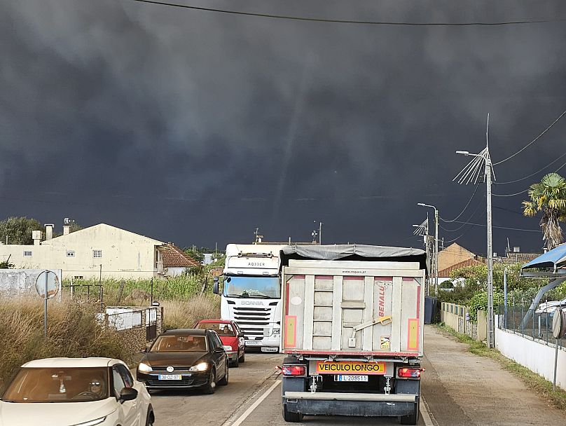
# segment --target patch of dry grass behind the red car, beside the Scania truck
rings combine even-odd
[[[165,300],[161,305],[164,329],[191,328],[205,318],[220,317],[220,298],[215,294],[195,296],[188,301]]]

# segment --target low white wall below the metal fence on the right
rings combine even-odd
[[[566,342],[562,342],[564,344]],[[527,367],[531,371],[553,382],[555,346],[533,341],[507,330],[495,329],[495,348],[507,358]],[[556,385],[566,390],[566,350],[558,350]]]

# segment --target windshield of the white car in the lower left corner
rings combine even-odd
[[[108,369],[23,368],[2,396],[6,402],[85,402],[109,397]]]

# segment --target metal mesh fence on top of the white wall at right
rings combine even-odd
[[[523,321],[525,315],[529,313],[529,306],[505,306],[499,305],[498,313],[498,327],[513,331],[513,333],[520,334],[523,337],[532,338],[533,341],[538,341],[544,345],[555,345],[556,339],[552,335],[552,321],[555,308],[536,309],[534,313]],[[562,342],[558,341],[558,348],[566,350]]]

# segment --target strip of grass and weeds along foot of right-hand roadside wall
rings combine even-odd
[[[556,387],[552,390],[552,383],[542,378],[537,373],[530,371],[526,367],[517,364],[513,360],[504,357],[501,352],[496,349],[490,349],[483,342],[474,341],[465,334],[460,334],[454,331],[445,324],[436,324],[436,328],[439,329],[443,334],[450,334],[457,338],[458,341],[466,343],[469,346],[469,352],[480,357],[488,357],[499,363],[504,369],[510,371],[517,378],[523,381],[525,385],[530,387],[530,389],[538,392],[544,397],[549,404],[566,411],[566,391]]]

